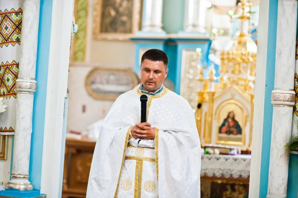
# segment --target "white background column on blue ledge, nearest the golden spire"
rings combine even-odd
[[[206,0],[185,0],[184,32],[206,32]]]

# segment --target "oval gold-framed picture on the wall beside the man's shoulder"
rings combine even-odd
[[[116,100],[118,96],[132,90],[139,78],[132,69],[109,69],[96,67],[86,76],[85,87],[96,100]]]

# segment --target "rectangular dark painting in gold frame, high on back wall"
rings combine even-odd
[[[95,0],[93,36],[98,40],[128,40],[140,30],[142,0]]]

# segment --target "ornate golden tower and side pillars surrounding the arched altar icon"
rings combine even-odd
[[[207,144],[211,143],[215,93],[223,91],[230,85],[236,85],[242,92],[246,92],[251,96],[252,109],[254,105],[257,45],[249,34],[249,2],[241,0],[237,13],[231,17],[238,19],[239,30],[221,53],[220,76],[215,76],[215,68],[212,65],[206,77],[204,77],[202,68],[199,69],[197,77],[198,108],[196,122],[199,135],[201,138],[203,137],[204,143]],[[217,80],[218,82],[216,83]],[[207,104],[208,111],[205,113],[202,113],[202,104]],[[204,126],[202,126],[203,119],[205,122]],[[252,125],[252,117],[250,122]],[[201,132],[203,128],[204,132]],[[252,126],[250,129],[250,142],[251,133]]]

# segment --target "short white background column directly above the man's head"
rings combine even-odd
[[[144,0],[145,20],[143,32],[164,32],[162,29],[162,3],[163,0]]]

